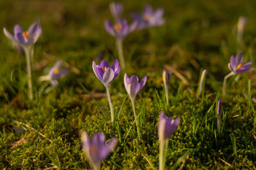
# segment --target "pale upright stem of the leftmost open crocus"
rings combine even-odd
[[[32,76],[31,76],[31,56],[30,56],[30,51],[31,48],[29,47],[24,47],[25,55],[26,55],[26,62],[27,62],[27,71],[28,71],[28,90],[29,90],[29,99],[32,101],[33,100],[33,87],[32,87]]]

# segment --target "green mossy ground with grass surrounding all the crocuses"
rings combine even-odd
[[[124,17],[141,11],[144,1],[124,1]],[[239,81],[228,80],[227,96],[221,85],[228,74],[230,55],[243,50],[246,60],[256,57],[256,3],[244,1],[150,1],[164,8],[166,23],[161,27],[132,32],[124,41],[127,69],[111,84],[116,113],[115,127],[109,123],[106,97],[97,102],[93,94],[104,93],[102,83],[92,70],[92,61],[117,57],[115,40],[104,29],[111,18],[109,1],[1,1],[0,28],[12,31],[15,24],[26,28],[40,18],[42,34],[35,45],[35,90],[42,83],[38,76],[57,59],[76,67],[59,81],[60,85],[30,102],[27,91],[26,60],[0,34],[0,168],[1,169],[88,169],[81,150],[82,130],[90,136],[102,131],[109,139],[118,137],[116,149],[103,162],[102,169],[150,169],[158,167],[157,122],[159,112],[180,117],[180,125],[169,140],[166,167],[177,169],[255,169],[256,112],[244,97],[248,80],[256,96],[255,71],[242,74]],[[248,18],[242,46],[236,43],[235,28],[239,16]],[[45,64],[46,63],[46,64]],[[165,65],[178,70],[187,80],[174,74],[170,80],[170,107],[166,108],[161,72]],[[205,97],[196,101],[196,88],[202,68],[207,69]],[[142,139],[136,139],[131,102],[127,97],[124,73],[147,75],[145,87],[136,97],[140,113]],[[78,81],[77,81],[78,80]],[[223,100],[225,124],[216,132],[216,101]],[[125,101],[124,101],[125,100]],[[124,103],[122,110],[120,107]],[[255,104],[254,104],[255,106]],[[27,131],[17,133],[15,127]],[[18,131],[20,131],[18,129]],[[16,129],[17,130],[17,129]],[[130,131],[129,131],[130,130]],[[45,137],[40,136],[41,132]]]

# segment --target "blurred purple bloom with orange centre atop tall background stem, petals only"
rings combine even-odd
[[[113,24],[110,20],[105,20],[105,29],[113,37],[123,39],[127,34],[134,31],[138,25],[138,21],[132,22],[128,25],[127,20],[124,18],[120,19],[119,22]]]

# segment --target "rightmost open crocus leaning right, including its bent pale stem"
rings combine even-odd
[[[225,78],[224,78],[223,96],[225,96],[225,94],[226,94],[226,83],[227,83],[227,79],[230,76],[233,76],[233,75],[239,74],[239,73],[247,73],[254,69],[254,68],[250,68],[250,66],[252,65],[251,61],[242,63],[242,60],[243,60],[243,52],[237,53],[236,57],[234,57],[234,55],[231,56],[230,63],[228,63],[228,69],[230,69],[231,72],[229,74],[227,74],[227,76],[225,76]]]

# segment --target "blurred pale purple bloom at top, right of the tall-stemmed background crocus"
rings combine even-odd
[[[139,25],[137,29],[144,29],[145,27],[163,25],[165,22],[163,13],[163,8],[157,8],[156,11],[154,11],[150,4],[145,4],[142,15],[131,13],[131,17],[134,18],[134,20],[138,20]]]

